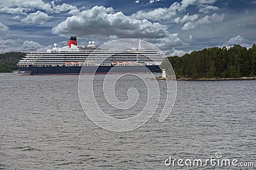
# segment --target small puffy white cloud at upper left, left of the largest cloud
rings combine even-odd
[[[28,24],[44,24],[45,21],[49,20],[51,17],[47,13],[37,11],[35,13],[29,13],[24,19],[21,20],[22,23]]]

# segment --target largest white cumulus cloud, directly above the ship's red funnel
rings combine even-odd
[[[86,38],[100,36],[101,39],[143,38],[162,49],[182,45],[177,34],[169,33],[167,26],[145,19],[135,19],[104,6],[94,6],[90,10],[67,17],[65,21],[52,28],[52,33]]]

